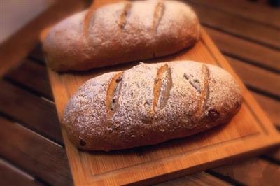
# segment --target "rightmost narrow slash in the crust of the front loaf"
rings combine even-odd
[[[202,117],[203,110],[209,98],[209,69],[206,65],[202,66],[202,73],[204,74],[204,81],[200,94],[200,100],[198,101],[197,110],[195,112],[195,116],[197,118]]]

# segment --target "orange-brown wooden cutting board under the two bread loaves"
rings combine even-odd
[[[97,8],[100,4],[94,1],[93,7]],[[219,166],[239,157],[255,155],[280,143],[280,135],[272,123],[204,30],[201,40],[193,48],[144,62],[170,60],[195,60],[221,66],[230,72],[239,83],[244,97],[239,113],[230,123],[202,134],[116,152],[77,150],[62,128],[75,185],[158,183]],[[56,73],[48,69],[59,120],[62,120],[68,99],[86,80],[109,71],[129,69],[138,63],[76,73]]]

